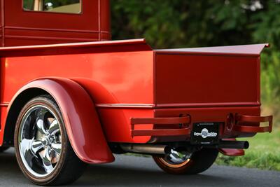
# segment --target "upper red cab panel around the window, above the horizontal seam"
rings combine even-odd
[[[22,8],[22,0],[4,0],[6,10],[5,25],[6,27],[45,29],[80,29],[80,26],[82,26],[85,30],[98,31],[99,1],[100,0],[83,0],[83,13],[71,14],[24,11]],[[69,27],[70,24],[71,27]]]

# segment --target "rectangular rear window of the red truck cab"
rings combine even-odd
[[[23,0],[25,11],[81,13],[82,0]]]

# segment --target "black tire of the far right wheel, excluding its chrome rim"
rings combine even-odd
[[[169,174],[198,174],[209,169],[218,156],[218,150],[214,148],[202,148],[188,157],[182,162],[172,162],[165,156],[153,156],[155,163],[165,172]]]

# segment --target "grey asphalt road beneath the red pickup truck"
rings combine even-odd
[[[0,186],[34,186],[20,172],[13,149],[0,154]],[[116,155],[116,162],[88,167],[71,186],[280,186],[280,172],[214,165],[178,176],[162,172],[152,158]]]

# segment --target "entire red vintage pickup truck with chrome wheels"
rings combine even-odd
[[[0,151],[38,185],[78,179],[113,153],[197,174],[244,155],[260,116],[267,44],[153,50],[110,41],[109,0],[1,0]],[[267,123],[260,126],[260,123]]]

